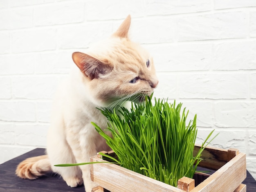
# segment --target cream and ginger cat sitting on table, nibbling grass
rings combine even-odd
[[[85,185],[91,192],[90,166],[55,167],[56,164],[83,163],[100,151],[111,150],[91,122],[106,128],[106,117],[97,108],[115,107],[126,100],[141,102],[153,93],[158,79],[153,58],[139,44],[130,41],[130,15],[110,38],[74,52],[76,65],[57,90],[43,156],[22,161],[16,174],[36,179],[47,172],[62,176],[67,185]],[[110,133],[108,133],[110,134]]]

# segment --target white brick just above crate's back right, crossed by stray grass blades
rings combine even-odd
[[[213,129],[202,129],[198,128],[198,136],[196,139],[196,143],[199,145],[202,145],[202,143],[205,141],[207,136],[210,134],[210,132]],[[220,133],[220,134],[218,134]],[[236,148],[240,152],[246,153],[246,147],[247,147],[247,142],[246,142],[246,132],[245,131],[240,131],[234,129],[227,129],[227,130],[215,130],[210,137],[213,138],[214,136],[218,136],[211,141],[209,146],[217,147],[220,149],[229,149],[229,148]],[[209,141],[210,141],[209,140]]]

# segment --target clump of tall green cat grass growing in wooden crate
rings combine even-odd
[[[153,105],[151,98],[146,97],[145,103],[133,104],[130,111],[120,107],[118,111],[104,108],[101,112],[108,118],[107,130],[92,124],[117,154],[116,162],[173,186],[177,186],[183,176],[193,177],[201,161],[200,155],[214,131],[194,157],[196,115],[186,124],[189,112],[182,109],[182,103],[176,106],[175,101],[170,104],[155,98]],[[106,131],[110,131],[112,137]]]

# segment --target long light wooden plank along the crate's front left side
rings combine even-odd
[[[90,161],[104,161],[97,156]],[[111,192],[185,192],[166,183],[110,163],[91,164],[91,179]]]

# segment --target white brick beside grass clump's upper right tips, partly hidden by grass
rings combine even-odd
[[[176,100],[177,102],[178,100]],[[180,102],[180,101],[179,101]],[[190,120],[193,121],[195,114],[197,127],[213,127],[213,104],[205,101],[181,101],[182,107],[186,107],[186,111],[189,110],[186,123]]]

